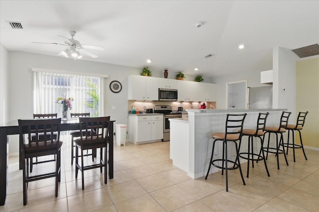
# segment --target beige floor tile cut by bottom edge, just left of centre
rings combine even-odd
[[[118,212],[165,212],[149,194],[115,204]]]

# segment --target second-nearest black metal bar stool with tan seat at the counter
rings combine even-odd
[[[260,156],[259,154],[254,153],[254,141],[253,141],[254,137],[256,139],[259,138],[260,143],[261,143],[260,148],[263,147],[264,139],[262,137],[264,136],[264,130],[265,130],[265,125],[266,125],[266,120],[267,120],[268,115],[269,115],[268,112],[267,113],[259,113],[258,119],[257,119],[257,128],[256,129],[253,129],[253,130],[252,129],[243,129],[242,136],[248,136],[248,152],[240,152],[239,157],[247,159],[247,177],[249,177],[249,161],[250,160],[252,161],[253,168],[254,168],[254,161],[258,162],[259,160],[264,160],[267,175],[268,175],[268,177],[270,177],[269,171],[267,168],[267,164],[266,164],[264,151],[262,151],[263,156]],[[240,150],[240,146],[241,146],[241,141],[239,142],[239,150]],[[250,152],[250,147],[251,147],[251,152]],[[247,155],[247,156],[243,156],[243,155]],[[254,156],[258,156],[258,158],[254,158]]]

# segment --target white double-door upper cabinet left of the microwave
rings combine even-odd
[[[128,77],[129,100],[159,100],[159,82],[157,77],[130,75]]]

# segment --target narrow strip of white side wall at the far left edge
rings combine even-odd
[[[9,52],[0,43],[0,124],[8,121],[7,79],[9,72]]]

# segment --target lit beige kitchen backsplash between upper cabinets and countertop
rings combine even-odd
[[[216,102],[205,102],[206,109],[214,109],[216,108]],[[135,106],[135,110],[145,111],[146,109],[152,108],[154,110],[155,105],[171,105],[173,111],[178,109],[178,107],[183,107],[184,110],[191,108],[199,108],[202,102],[167,102],[167,101],[135,101],[129,100],[128,111],[131,111],[132,106]]]

